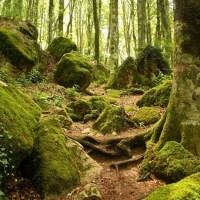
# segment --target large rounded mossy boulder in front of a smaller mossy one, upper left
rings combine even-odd
[[[57,64],[54,78],[66,88],[78,86],[84,91],[93,79],[93,71],[85,56],[71,52],[65,54]]]

